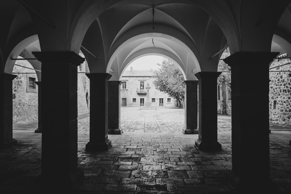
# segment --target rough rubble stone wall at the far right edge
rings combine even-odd
[[[281,55],[287,57],[287,55]],[[275,59],[270,68],[290,63],[290,59]],[[269,118],[271,123],[291,126],[291,65],[276,67],[270,71]]]

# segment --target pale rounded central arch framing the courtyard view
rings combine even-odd
[[[186,80],[197,80],[194,74],[201,71],[196,55],[184,42],[167,34],[144,33],[129,38],[115,50],[109,59],[106,72],[112,74],[111,80],[120,80],[129,63],[149,54],[170,58],[180,66]]]

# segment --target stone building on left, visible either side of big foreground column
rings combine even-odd
[[[80,55],[84,57],[82,53]],[[13,74],[17,77],[12,83],[13,122],[38,120],[38,86],[34,83],[38,81],[36,73],[28,69],[33,66],[26,60],[17,60],[15,64]],[[84,72],[89,72],[86,61],[78,67],[78,115],[90,112],[90,82]],[[54,79],[53,75],[51,79]]]

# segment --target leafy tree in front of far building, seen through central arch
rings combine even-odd
[[[181,70],[166,58],[164,58],[161,64],[157,65],[161,68],[154,71],[155,88],[175,98],[178,107],[181,108],[185,98],[184,76]]]

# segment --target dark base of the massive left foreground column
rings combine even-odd
[[[59,177],[60,175],[49,175],[44,177],[40,174],[35,182],[35,187],[40,191],[72,191],[84,179],[84,170],[77,168],[75,172],[69,173],[66,177]]]

